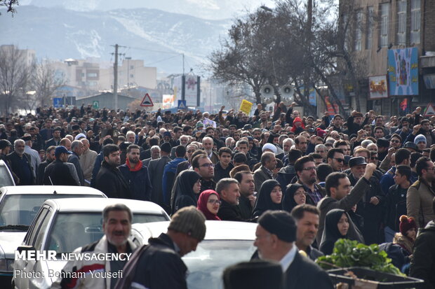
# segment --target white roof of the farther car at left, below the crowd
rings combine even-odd
[[[74,195],[104,195],[100,190],[76,185],[7,185],[0,188],[1,195],[25,194],[74,194]]]

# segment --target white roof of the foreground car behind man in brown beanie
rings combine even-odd
[[[149,237],[159,237],[166,232],[167,222],[137,223],[132,228],[140,232],[147,240]],[[257,224],[246,222],[232,222],[225,220],[206,220],[206,240],[254,240]]]

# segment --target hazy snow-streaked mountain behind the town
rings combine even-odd
[[[101,6],[105,1],[75,2]],[[229,19],[203,20],[148,8],[84,12],[53,5],[19,6],[13,17],[1,12],[0,44],[36,50],[37,57],[100,57],[103,61],[113,61],[112,45],[119,44],[123,57],[144,59],[146,66],[165,73],[182,71],[182,53],[186,71],[197,68],[219,46],[232,24]]]

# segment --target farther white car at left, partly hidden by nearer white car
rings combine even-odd
[[[11,278],[15,250],[22,243],[44,201],[66,197],[107,198],[99,190],[68,185],[14,185],[0,188],[0,276]]]

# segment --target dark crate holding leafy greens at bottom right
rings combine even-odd
[[[354,272],[358,278],[344,275],[348,271]],[[364,267],[330,269],[327,272],[334,284],[347,283],[349,288],[422,288],[424,285],[422,279],[377,272]]]

